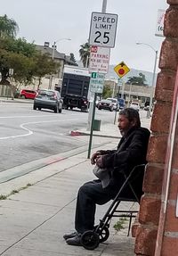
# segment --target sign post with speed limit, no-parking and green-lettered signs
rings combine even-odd
[[[104,73],[108,72],[109,66],[110,49],[107,50],[107,48],[113,48],[115,46],[117,32],[117,14],[105,13],[106,5],[107,0],[103,0],[102,11],[92,12],[89,33],[89,45],[92,45],[89,68],[90,72],[92,72],[92,78],[90,80],[90,91],[94,93],[94,98],[91,108],[92,121],[87,158],[90,158],[92,148],[96,94],[102,93]]]

